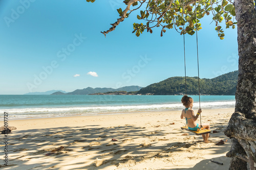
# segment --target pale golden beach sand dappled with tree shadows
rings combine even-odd
[[[203,110],[202,123],[219,131],[209,143],[180,129],[181,111],[9,120],[17,130],[8,134],[1,169],[228,169],[231,141],[223,131],[233,111]],[[216,145],[220,139],[228,140]]]

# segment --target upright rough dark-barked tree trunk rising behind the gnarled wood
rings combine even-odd
[[[247,119],[256,120],[256,12],[253,0],[234,0],[234,7],[236,8],[236,19],[238,21],[239,53],[239,76],[235,111],[243,113]],[[232,121],[236,122],[236,120]],[[229,125],[231,124],[229,122]],[[245,155],[244,149],[237,139],[232,138],[231,141],[229,156],[232,158],[229,170],[247,169],[247,163],[237,158],[239,155]],[[232,155],[234,153],[237,154],[237,157]]]

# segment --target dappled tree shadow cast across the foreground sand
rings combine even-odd
[[[187,141],[176,139],[174,142],[168,134],[180,136],[182,131],[168,132],[159,128],[151,131],[145,127],[125,125],[15,131],[8,135],[9,166],[2,169],[115,169],[125,163],[136,164],[155,158],[172,164],[176,153],[192,152],[197,145],[204,144],[191,136]],[[61,146],[63,149],[53,152]],[[216,152],[221,150],[221,147],[216,147]],[[48,153],[54,154],[46,156]]]

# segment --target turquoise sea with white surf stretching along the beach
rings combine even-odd
[[[199,108],[199,95],[193,109]],[[0,119],[182,110],[182,95],[0,95]],[[234,95],[200,95],[203,109],[234,108]]]

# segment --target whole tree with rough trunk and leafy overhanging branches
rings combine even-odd
[[[95,0],[87,0],[94,2]],[[133,33],[140,36],[145,30],[152,33],[154,27],[160,27],[161,36],[166,29],[176,29],[181,35],[193,35],[201,29],[200,20],[212,14],[216,23],[215,30],[220,39],[225,34],[220,26],[225,21],[226,28],[238,26],[239,77],[236,91],[235,111],[225,130],[231,138],[232,145],[229,169],[255,169],[256,154],[256,11],[253,0],[124,0],[126,8],[117,9],[120,18],[112,27],[103,31],[105,36],[115,30],[130,13],[146,6],[140,11],[138,19],[146,23],[134,23]],[[134,9],[131,9],[134,8]],[[237,22],[234,20],[236,16]]]

